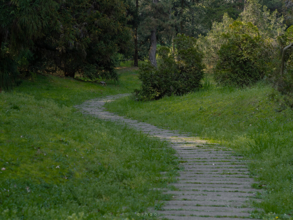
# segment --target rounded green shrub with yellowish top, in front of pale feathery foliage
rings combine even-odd
[[[218,51],[214,79],[219,84],[243,86],[263,78],[269,62],[268,43],[252,23],[234,21]]]

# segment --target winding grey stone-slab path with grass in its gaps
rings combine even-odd
[[[125,123],[170,142],[178,153],[184,170],[180,172],[178,182],[174,183],[177,191],[173,200],[166,201],[163,210],[156,211],[162,218],[175,220],[239,220],[249,218],[253,209],[248,201],[254,199],[257,189],[242,157],[216,144],[207,143],[187,134],[157,128],[148,123],[125,119],[110,113],[103,107],[105,102],[127,94],[93,99],[76,106],[84,114],[91,114],[100,119]]]

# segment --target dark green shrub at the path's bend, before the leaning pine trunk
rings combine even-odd
[[[201,87],[204,66],[196,39],[179,34],[175,44],[175,57],[170,54],[169,48],[160,47],[158,67],[148,63],[140,68],[142,86],[140,90],[134,91],[137,99],[152,100],[172,94],[182,95]]]

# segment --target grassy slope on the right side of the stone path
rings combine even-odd
[[[265,189],[263,202],[255,207],[289,219],[293,215],[293,112],[281,111],[278,94],[271,94],[271,87],[262,83],[236,89],[207,82],[200,91],[182,97],[147,102],[126,97],[106,107],[159,127],[190,132],[245,155],[252,160],[249,168],[258,176],[258,188]]]

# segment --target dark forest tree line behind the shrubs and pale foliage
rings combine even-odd
[[[293,21],[291,0],[259,0],[277,9],[287,27]],[[1,0],[0,90],[19,74],[79,73],[88,79],[118,79],[118,53],[149,59],[156,47],[175,54],[177,34],[205,36],[224,13],[234,20],[246,0]]]

